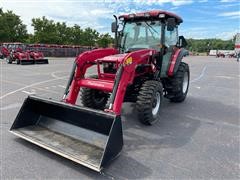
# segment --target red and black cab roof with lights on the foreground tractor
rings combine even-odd
[[[159,15],[161,14],[161,17]],[[179,17],[178,15],[168,12],[168,11],[163,11],[163,10],[153,10],[153,11],[146,11],[146,12],[140,12],[140,13],[133,13],[133,14],[124,14],[118,17],[119,19],[124,18],[125,21],[127,20],[133,20],[133,19],[167,19],[167,18],[175,18],[176,23],[180,24],[183,22],[182,18]]]

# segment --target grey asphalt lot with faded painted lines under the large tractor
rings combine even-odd
[[[124,148],[102,174],[9,133],[30,94],[61,99],[74,58],[49,65],[1,60],[0,179],[238,179],[240,178],[239,63],[187,57],[191,84],[185,102],[163,102],[161,119],[140,124],[134,104],[123,107]]]

